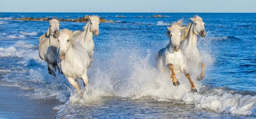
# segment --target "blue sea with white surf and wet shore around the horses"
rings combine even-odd
[[[3,119],[256,119],[256,14],[246,13],[0,13],[0,118]],[[48,74],[38,55],[47,21],[11,18],[77,19],[99,15],[90,85],[76,93],[64,75]],[[150,17],[156,14],[165,17]],[[117,16],[126,17],[117,17]],[[180,73],[179,86],[157,71],[155,55],[166,47],[167,26],[199,15],[206,37],[198,49],[206,64],[189,71],[198,90]],[[143,17],[137,17],[143,16]],[[116,22],[118,21],[118,22]],[[82,30],[86,23],[60,22]],[[151,25],[149,25],[151,24]]]

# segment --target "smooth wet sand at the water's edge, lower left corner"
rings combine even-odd
[[[58,100],[33,100],[20,96],[24,90],[0,86],[0,119],[53,119]]]

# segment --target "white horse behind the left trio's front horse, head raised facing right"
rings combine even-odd
[[[95,36],[99,35],[99,22],[98,16],[89,16],[89,22],[84,26],[84,31],[76,30],[72,33],[73,39],[82,44],[89,54],[90,64],[93,61],[94,53],[93,33]]]

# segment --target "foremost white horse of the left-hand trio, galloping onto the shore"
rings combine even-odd
[[[87,67],[90,64],[89,55],[79,42],[73,41],[71,30],[64,29],[60,31],[58,44],[58,67],[67,77],[69,83],[75,87],[79,94],[82,94],[79,90],[77,78],[83,79],[84,86],[87,86]]]

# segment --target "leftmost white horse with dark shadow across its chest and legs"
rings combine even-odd
[[[58,52],[57,37],[59,34],[60,22],[57,19],[51,19],[49,20],[49,23],[50,25],[47,33],[44,33],[39,38],[38,53],[40,58],[47,62],[49,74],[56,76],[54,68],[56,70],[56,55]]]

